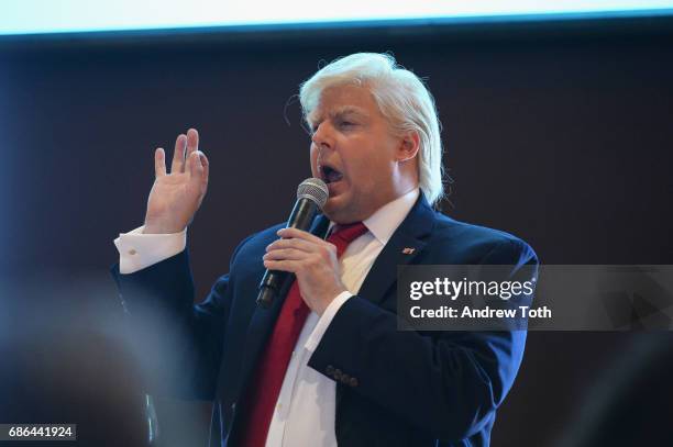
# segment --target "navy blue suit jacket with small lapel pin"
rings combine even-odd
[[[315,231],[324,232],[327,224],[317,217]],[[280,310],[279,300],[269,310],[255,305],[262,256],[280,226],[243,241],[229,273],[197,305],[186,250],[132,275],[113,267],[132,327],[158,314],[173,321],[161,335],[144,334],[139,343],[151,349],[169,332],[186,340],[184,349],[158,360],[156,371],[166,377],[148,385],[155,393],[213,400],[212,446],[236,445],[242,396]],[[402,254],[407,247],[415,248],[411,255]],[[537,262],[521,239],[454,221],[420,194],[309,360],[336,381],[339,445],[487,446],[496,409],[521,362],[526,332],[398,331],[397,266]]]

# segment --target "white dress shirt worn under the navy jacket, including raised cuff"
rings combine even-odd
[[[315,312],[309,314],[285,372],[266,447],[336,447],[336,383],[309,368],[308,361],[339,309],[360,290],[376,257],[405,220],[418,194],[419,190],[415,189],[378,209],[363,222],[368,231],[343,253],[341,281],[349,291],[336,297],[322,316]],[[142,234],[142,230],[141,226],[114,239],[122,275],[146,268],[185,249],[186,231],[147,235]]]

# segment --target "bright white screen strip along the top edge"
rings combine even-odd
[[[673,13],[673,0],[0,0],[0,35],[375,20],[544,20]]]

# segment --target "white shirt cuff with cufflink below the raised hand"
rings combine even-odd
[[[143,234],[144,225],[114,239],[119,250],[119,272],[133,273],[168,259],[187,246],[187,228],[172,234]]]

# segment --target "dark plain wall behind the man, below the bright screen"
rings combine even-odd
[[[544,264],[673,264],[671,24],[4,38],[0,271],[104,276],[112,239],[142,224],[154,148],[170,153],[194,126],[211,164],[188,239],[200,299],[241,238],[286,219],[310,176],[299,82],[361,51],[393,52],[427,79],[453,179],[444,213],[522,237]],[[531,333],[493,445],[547,446],[573,429],[633,337]],[[165,403],[159,417],[194,410]]]

